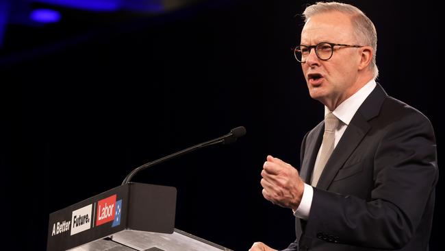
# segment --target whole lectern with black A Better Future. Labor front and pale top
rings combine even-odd
[[[49,215],[48,251],[229,250],[175,228],[176,189],[129,182]]]

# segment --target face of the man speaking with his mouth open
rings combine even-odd
[[[349,17],[340,12],[327,12],[308,19],[301,32],[301,45],[321,42],[356,45]],[[358,90],[359,62],[357,48],[335,46],[329,60],[320,60],[312,49],[306,62],[301,64],[309,95],[330,109],[337,107]]]

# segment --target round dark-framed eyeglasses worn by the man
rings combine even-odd
[[[327,43],[322,42],[318,43],[317,45],[300,45],[295,47],[294,49],[294,56],[295,59],[298,62],[305,63],[307,57],[311,53],[311,49],[315,49],[315,53],[320,60],[329,60],[332,57],[334,46],[342,46],[344,48],[359,48],[364,47],[363,45],[344,45],[344,44],[334,44],[334,43]],[[339,48],[341,49],[341,48]]]

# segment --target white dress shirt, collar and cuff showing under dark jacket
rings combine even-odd
[[[338,141],[342,137],[344,131],[348,127],[351,119],[353,119],[355,112],[359,109],[361,104],[365,101],[365,99],[372,93],[375,86],[377,86],[375,80],[371,80],[367,84],[365,84],[357,93],[354,93],[351,97],[348,97],[345,101],[342,102],[335,110],[333,110],[333,115],[340,120],[338,128],[335,129],[335,142],[334,147],[337,146]],[[329,112],[329,108],[325,106],[325,115]],[[321,147],[320,147],[321,148]],[[318,150],[315,166],[317,165],[320,159],[320,152]],[[309,184],[305,183],[305,190],[303,191],[303,198],[301,198],[300,205],[294,211],[295,217],[301,219],[307,219],[309,217],[309,213],[311,211],[312,198],[314,197],[314,188]]]

